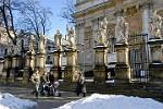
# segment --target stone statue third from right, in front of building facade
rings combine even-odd
[[[103,19],[103,21],[100,23],[100,28],[99,28],[99,34],[98,37],[96,38],[97,45],[102,45],[106,47],[108,45],[108,20],[106,17]]]

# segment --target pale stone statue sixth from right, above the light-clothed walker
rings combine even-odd
[[[45,39],[45,36],[42,35],[39,37],[38,51],[41,53],[46,52],[46,39]]]

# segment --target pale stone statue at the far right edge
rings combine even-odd
[[[156,14],[156,11],[153,12],[153,15],[150,21],[151,35],[155,38],[161,38],[161,28],[162,28],[162,16]]]

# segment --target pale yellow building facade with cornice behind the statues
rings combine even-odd
[[[78,64],[85,71],[93,69],[95,64],[95,38],[97,37],[99,23],[106,17],[109,21],[108,40],[109,58],[114,52],[114,28],[117,16],[125,16],[129,24],[129,34],[150,35],[150,17],[154,10],[163,15],[162,0],[76,0],[76,34],[78,44]],[[114,57],[114,56],[113,56]],[[111,59],[113,59],[113,57]],[[108,63],[116,59],[109,60]]]

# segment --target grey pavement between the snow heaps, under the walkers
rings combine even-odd
[[[34,100],[38,102],[38,106],[35,109],[52,109],[52,108],[60,107],[72,100],[82,98],[82,96],[76,97],[76,95],[72,92],[61,92],[61,95],[62,95],[61,97],[40,96],[37,99],[35,98],[34,95],[32,95],[33,90],[29,88],[10,87],[10,86],[0,86],[0,92],[13,94],[14,96],[20,97],[20,98]]]

